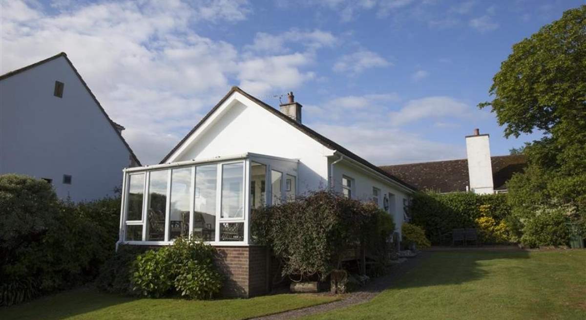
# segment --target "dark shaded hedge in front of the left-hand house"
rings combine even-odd
[[[52,186],[0,176],[0,305],[93,280],[114,253],[120,199],[74,205]]]

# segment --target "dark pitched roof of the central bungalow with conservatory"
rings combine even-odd
[[[269,111],[270,113],[276,115],[277,117],[281,118],[281,120],[287,122],[288,124],[292,125],[293,127],[297,128],[299,131],[304,132],[306,135],[308,135],[309,137],[313,138],[315,141],[318,141],[320,144],[324,145],[327,148],[336,150],[338,152],[340,152],[340,154],[343,154],[345,156],[347,156],[350,159],[353,159],[356,162],[359,162],[360,164],[367,166],[370,169],[373,169],[374,171],[380,173],[383,176],[386,176],[387,178],[391,179],[394,182],[400,183],[401,185],[405,186],[408,189],[412,189],[415,190],[414,186],[409,185],[408,183],[402,181],[401,179],[397,178],[396,176],[392,175],[389,172],[384,171],[383,169],[377,167],[376,165],[371,164],[370,162],[366,161],[363,158],[360,158],[360,156],[354,154],[353,152],[350,152],[348,149],[342,147],[339,144],[336,144],[336,142],[333,142],[331,139],[328,139],[326,137],[324,137],[323,135],[319,134],[318,132],[315,132],[314,130],[312,130],[311,128],[307,127],[304,124],[301,124],[295,120],[293,120],[292,118],[288,117],[287,115],[283,114],[281,111],[271,107],[271,105],[268,105],[266,103],[264,103],[261,100],[258,100],[258,98],[255,98],[253,96],[251,96],[250,94],[246,93],[244,90],[242,90],[241,88],[234,86],[230,89],[230,91],[228,91],[228,93],[226,94],[226,96],[224,96],[222,98],[222,100],[220,100],[219,103],[217,103],[212,110],[209,111],[209,113],[207,113],[201,121],[199,121],[199,123],[193,127],[193,129],[191,131],[189,131],[189,133],[187,135],[185,135],[185,137],[179,141],[179,143],[175,146],[175,148],[171,149],[171,151],[169,152],[169,154],[167,154],[165,156],[165,158],[162,159],[162,161],[160,162],[161,164],[164,164],[167,159],[169,159],[169,157],[175,153],[175,151],[177,151],[177,149],[179,149],[179,147],[185,142],[187,141],[187,139],[189,138],[190,135],[193,134],[193,132],[195,132],[197,130],[197,128],[199,128],[203,122],[205,122],[207,120],[207,118],[209,118],[214,111],[216,111],[220,105],[222,105],[224,103],[224,101],[226,101],[226,99],[228,97],[231,96],[231,94],[233,94],[234,92],[238,92],[240,94],[242,94],[243,96],[249,98],[250,100],[254,101],[255,103],[257,103],[258,105],[260,105],[261,107],[265,108],[265,110]]]

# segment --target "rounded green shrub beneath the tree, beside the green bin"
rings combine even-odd
[[[524,221],[521,241],[527,247],[560,246],[569,241],[565,208],[541,209],[530,219]]]

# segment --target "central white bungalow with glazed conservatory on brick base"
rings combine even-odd
[[[250,297],[269,281],[250,234],[257,207],[331,188],[376,202],[400,234],[415,189],[306,127],[301,109],[292,93],[277,110],[231,88],[161,164],[124,169],[118,244],[202,237],[223,255],[224,294]]]

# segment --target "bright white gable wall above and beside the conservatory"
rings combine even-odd
[[[332,150],[308,137],[270,111],[239,93],[229,98],[210,118],[209,127],[169,161],[209,159],[254,152],[299,159],[298,192],[328,188],[328,159]],[[199,130],[198,130],[199,131]]]

